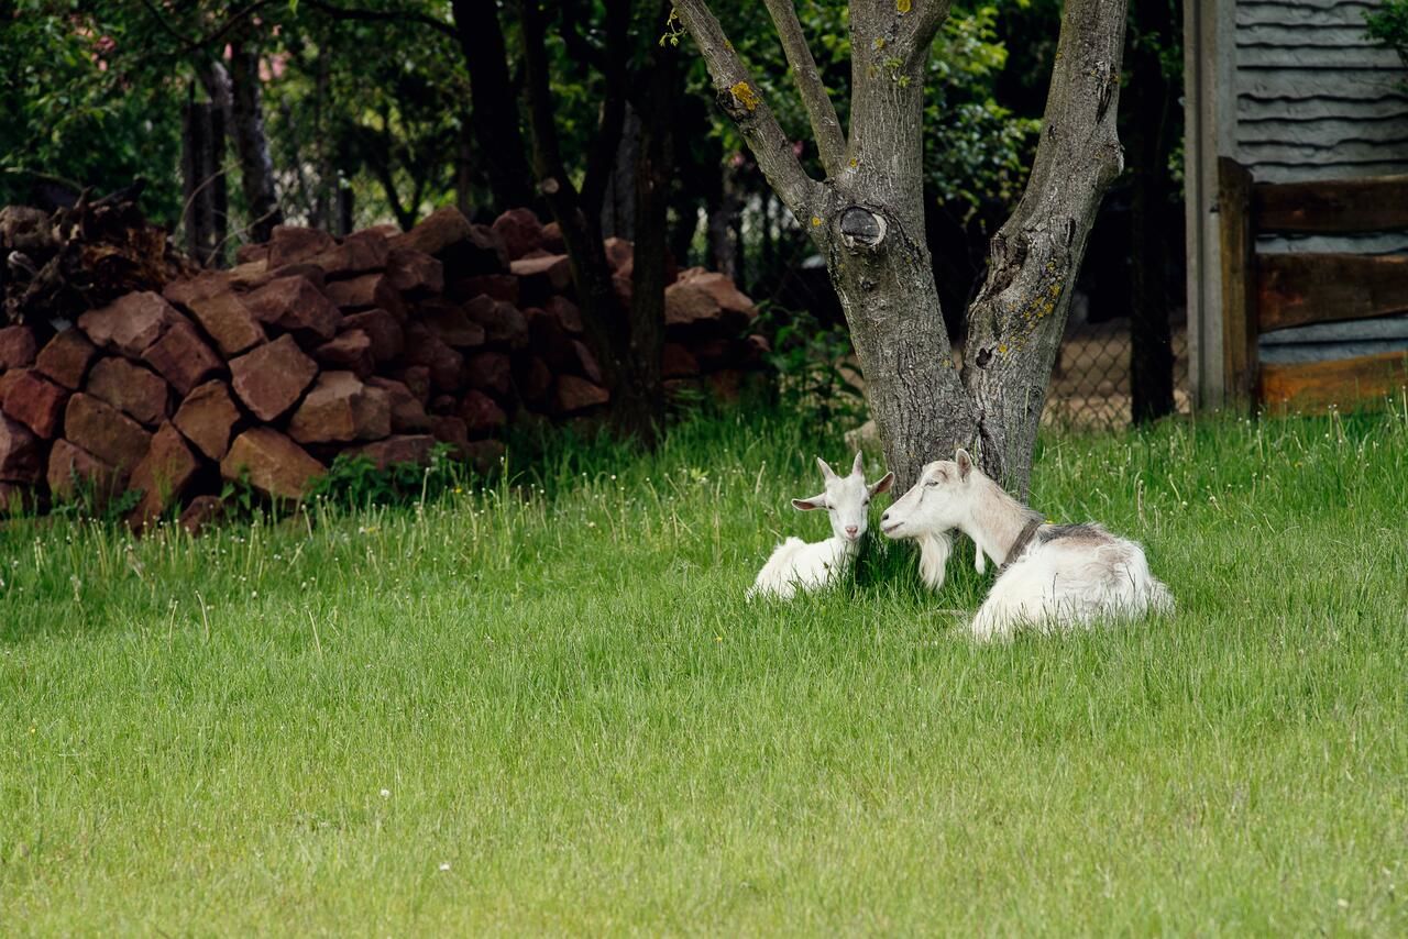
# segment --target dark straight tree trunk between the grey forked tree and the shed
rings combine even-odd
[[[1135,422],[1173,414],[1173,332],[1169,325],[1170,263],[1169,131],[1178,92],[1170,87],[1160,49],[1177,42],[1178,0],[1142,0],[1132,8],[1132,80],[1126,111],[1133,163],[1129,200],[1129,252],[1133,259],[1129,304],[1129,386]]]

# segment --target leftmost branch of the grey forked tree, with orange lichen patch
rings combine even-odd
[[[773,191],[787,204],[793,215],[805,220],[821,197],[821,184],[810,177],[797,159],[793,142],[783,132],[777,115],[758,92],[748,68],[724,35],[724,27],[708,8],[705,0],[679,0],[674,6],[684,28],[704,56],[719,107],[734,120],[753,151],[759,169]]]

